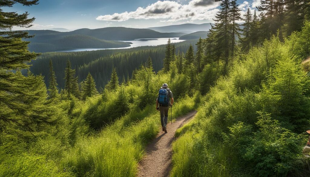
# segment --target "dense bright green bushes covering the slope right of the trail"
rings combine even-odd
[[[307,176],[297,133],[310,126],[309,83],[296,38],[251,48],[210,91],[202,78],[218,65],[205,66],[198,80],[206,102],[178,132],[171,176]]]

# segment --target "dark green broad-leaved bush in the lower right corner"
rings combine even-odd
[[[282,128],[270,115],[262,114],[256,123],[259,131],[246,148],[244,158],[258,176],[286,176],[303,170],[305,164],[300,155],[301,138]]]

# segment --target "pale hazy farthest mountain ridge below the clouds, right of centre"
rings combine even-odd
[[[186,24],[176,24],[176,25],[169,25],[169,26],[151,27],[147,29],[153,29],[161,33],[173,33],[173,32],[178,32],[178,31],[197,32],[197,31],[209,31],[209,29],[211,29],[211,25],[214,25],[214,24],[212,23],[203,23],[203,24],[186,23]]]

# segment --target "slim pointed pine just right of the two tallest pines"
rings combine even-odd
[[[251,24],[252,24],[252,14],[250,11],[250,8],[248,8],[248,10],[246,11],[246,14],[244,14],[244,19],[245,22],[244,24],[242,24],[243,29],[241,29],[242,31],[242,35],[243,37],[240,38],[240,46],[241,46],[241,51],[247,53],[250,50],[251,47],[251,41],[250,41],[250,28],[251,28]]]

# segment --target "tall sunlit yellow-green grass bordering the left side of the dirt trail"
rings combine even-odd
[[[179,100],[173,118],[195,108],[193,98]],[[61,164],[77,176],[135,176],[144,146],[159,132],[160,118],[155,106],[130,112],[98,135],[79,139]]]

